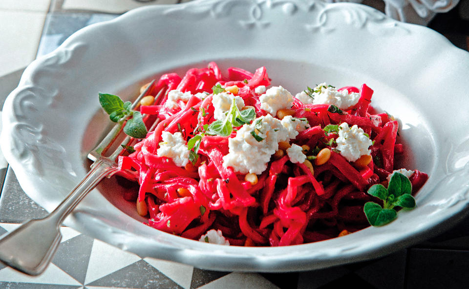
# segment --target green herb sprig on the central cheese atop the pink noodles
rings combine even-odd
[[[233,98],[230,110],[226,114],[225,119],[217,120],[210,124],[207,133],[226,137],[232,133],[233,127],[249,124],[255,118],[256,112],[254,111],[254,108],[239,111],[236,106],[236,100]]]

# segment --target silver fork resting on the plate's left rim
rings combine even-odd
[[[132,109],[139,105],[140,100],[147,94],[152,85],[153,82],[132,103]],[[155,102],[161,98],[164,91],[165,88],[158,92]],[[158,120],[150,130],[157,122]],[[105,153],[121,135],[123,127],[124,123],[116,124],[101,143],[88,154],[88,158],[94,161],[91,170],[57,208],[43,219],[29,220],[9,234],[2,236],[0,239],[0,260],[2,262],[29,275],[39,275],[47,268],[62,239],[60,225],[65,217],[104,177],[110,177],[117,171],[115,160],[122,153],[123,147],[117,146],[107,157]],[[121,144],[128,145],[130,141],[131,138],[126,136]]]

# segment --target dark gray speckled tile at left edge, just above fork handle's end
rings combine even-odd
[[[24,193],[15,173],[9,168],[0,196],[0,222],[22,223],[46,215],[47,211]]]

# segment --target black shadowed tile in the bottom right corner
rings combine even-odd
[[[468,288],[469,251],[412,248],[407,254],[407,289]]]

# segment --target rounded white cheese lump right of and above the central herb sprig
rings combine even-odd
[[[271,115],[276,115],[277,110],[291,108],[293,95],[281,86],[272,86],[259,96],[260,108]]]

